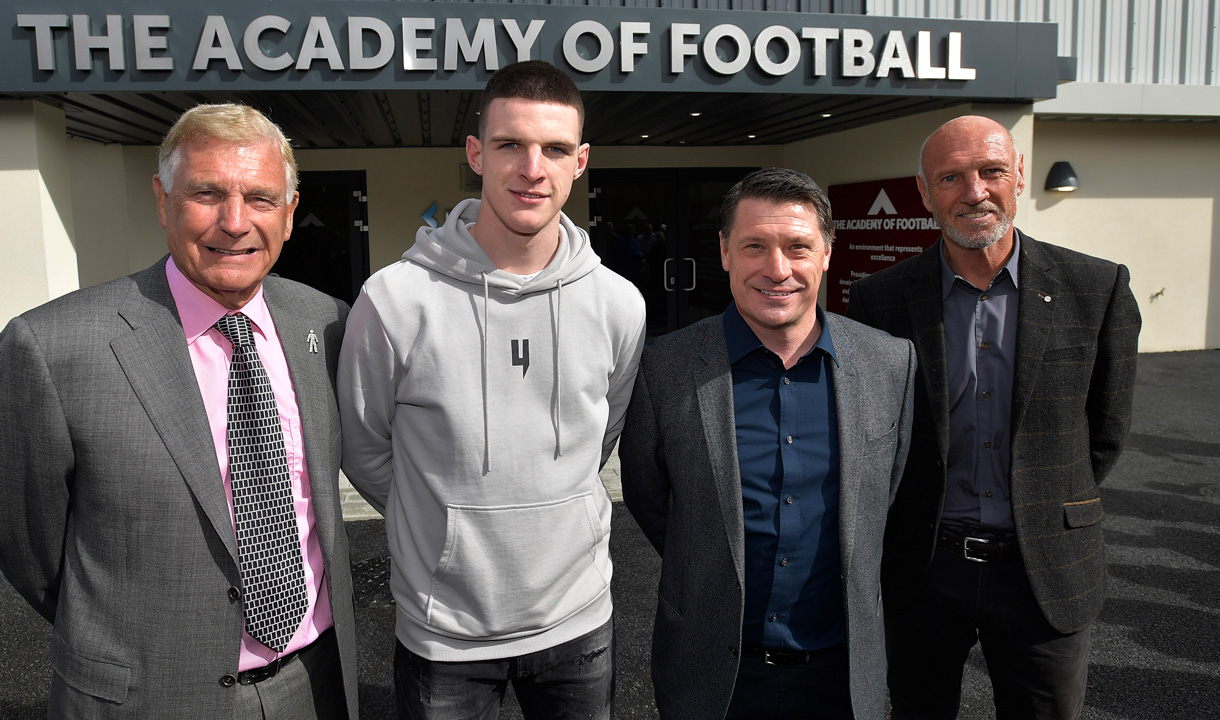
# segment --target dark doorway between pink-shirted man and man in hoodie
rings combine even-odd
[[[272,270],[349,305],[368,279],[365,172],[300,173],[293,234]]]

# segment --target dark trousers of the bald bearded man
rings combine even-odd
[[[924,596],[886,613],[892,718],[956,718],[961,670],[975,642],[987,659],[997,720],[1078,718],[1089,635],[1050,627],[1019,558],[972,563],[939,547]]]

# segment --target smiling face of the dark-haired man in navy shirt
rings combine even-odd
[[[813,207],[742,199],[728,237],[720,236],[720,261],[737,310],[764,344],[809,338],[817,322],[817,288],[831,262]]]

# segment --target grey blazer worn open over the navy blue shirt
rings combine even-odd
[[[915,353],[830,312],[839,544],[859,720],[884,713],[881,547],[910,447]],[[721,316],[645,348],[620,441],[627,509],[661,554],[653,683],[665,720],[722,719],[742,642],[744,543],[733,378]]]

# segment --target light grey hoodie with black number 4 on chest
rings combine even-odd
[[[547,649],[610,617],[610,499],[644,301],[560,216],[528,281],[464,200],[365,283],[339,360],[343,469],[386,515],[396,635],[431,660]]]

